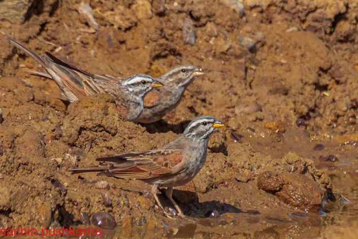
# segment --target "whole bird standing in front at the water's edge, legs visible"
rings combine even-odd
[[[185,217],[174,201],[173,187],[190,182],[202,169],[206,161],[210,136],[225,124],[211,116],[198,117],[191,121],[183,134],[160,149],[130,152],[97,158],[98,166],[69,169],[72,173],[97,172],[97,176],[119,179],[137,179],[151,184],[151,193],[165,215],[166,212],[157,196],[158,187],[167,187],[166,195],[177,210]]]

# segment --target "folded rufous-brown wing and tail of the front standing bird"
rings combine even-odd
[[[76,168],[75,173],[100,172],[98,176],[114,176],[123,179],[149,179],[175,173],[183,155],[179,150],[153,150],[98,158],[97,161],[112,162],[106,166]],[[176,171],[176,170],[175,170]]]

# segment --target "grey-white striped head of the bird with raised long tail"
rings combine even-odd
[[[143,98],[151,89],[164,86],[161,82],[148,75],[133,75],[125,78],[119,83],[125,87],[133,96]]]

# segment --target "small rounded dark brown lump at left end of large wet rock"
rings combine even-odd
[[[278,174],[274,174],[270,171],[264,172],[257,178],[258,189],[266,192],[277,192],[283,186],[283,178]]]

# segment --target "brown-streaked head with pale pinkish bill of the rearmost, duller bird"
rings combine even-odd
[[[204,75],[204,71],[193,65],[178,65],[170,69],[166,74],[162,75],[159,79],[171,87],[186,87],[197,76]]]

